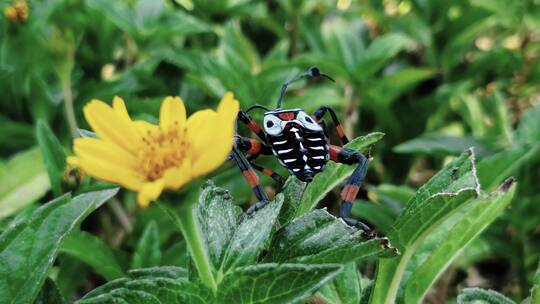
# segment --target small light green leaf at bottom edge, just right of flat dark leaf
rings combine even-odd
[[[319,292],[330,304],[358,304],[361,296],[360,287],[360,275],[356,269],[356,263],[349,263]]]

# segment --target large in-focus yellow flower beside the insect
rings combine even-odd
[[[92,100],[84,116],[98,138],[77,138],[68,162],[88,175],[137,191],[146,207],[164,189],[177,190],[219,167],[232,149],[239,103],[226,93],[217,111],[206,109],[186,119],[179,97],[161,104],[159,125],[132,121],[124,101],[113,106]]]

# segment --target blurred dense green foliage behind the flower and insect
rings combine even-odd
[[[284,105],[333,106],[351,138],[385,133],[353,210],[383,234],[414,190],[470,146],[477,160],[491,160],[479,168],[485,191],[500,182],[491,168],[516,177],[511,208],[463,249],[427,299],[455,301],[467,286],[524,299],[540,256],[539,29],[538,0],[30,1],[26,21],[0,18],[0,229],[63,192],[104,186],[62,173],[76,128],[88,128],[82,107],[90,99],[121,96],[133,117],[150,121],[167,95],[180,95],[190,112],[215,107],[226,91],[244,108],[274,106],[281,83],[318,66],[336,83],[294,85]],[[44,162],[44,151],[56,157]],[[253,201],[235,168],[213,178],[236,203]],[[335,211],[338,194],[320,205]],[[185,265],[185,245],[162,217],[157,207],[137,210],[121,191],[83,222],[87,232],[66,240],[50,277],[76,298],[120,276],[119,267]],[[85,238],[116,258],[70,251]],[[141,252],[145,242],[159,254]],[[130,265],[88,266],[128,264],[132,252]],[[373,262],[360,268],[373,277]]]

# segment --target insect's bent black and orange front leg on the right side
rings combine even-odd
[[[372,237],[373,232],[366,224],[351,218],[352,204],[366,176],[368,159],[358,151],[334,145],[330,146],[330,159],[337,163],[357,165],[341,191],[339,217],[348,225],[355,226],[362,230],[368,237]]]

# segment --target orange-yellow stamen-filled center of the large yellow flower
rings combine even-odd
[[[163,176],[165,171],[182,164],[188,150],[188,143],[184,134],[179,134],[178,129],[164,131],[161,128],[157,132],[148,130],[143,137],[145,146],[139,151],[137,158],[139,170],[150,181]]]

